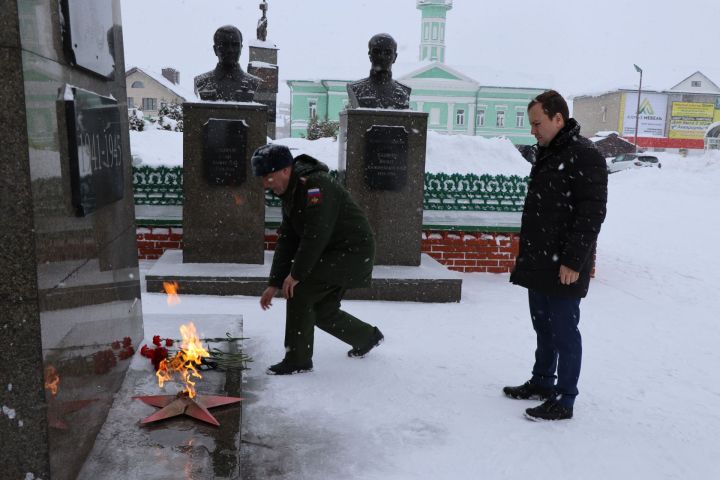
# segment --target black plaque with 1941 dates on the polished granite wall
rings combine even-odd
[[[123,198],[123,152],[117,100],[80,88],[62,92],[72,204],[78,216]]]

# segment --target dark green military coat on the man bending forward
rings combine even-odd
[[[269,285],[281,287],[290,273],[300,282],[343,288],[370,285],[375,239],[370,224],[328,167],[300,155],[282,199],[282,225]]]

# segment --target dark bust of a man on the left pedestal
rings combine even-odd
[[[201,100],[252,102],[262,80],[240,68],[242,33],[225,25],[217,29],[213,39],[218,64],[215,70],[195,77],[195,94]]]

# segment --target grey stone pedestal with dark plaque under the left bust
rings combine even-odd
[[[267,107],[183,104],[183,261],[263,263],[265,197],[250,158],[266,143]]]

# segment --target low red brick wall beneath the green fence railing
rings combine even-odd
[[[154,260],[168,249],[182,248],[182,228],[137,229],[138,258]],[[274,250],[277,234],[265,232],[265,249]],[[516,233],[424,231],[422,252],[458,272],[509,272],[518,252]]]

